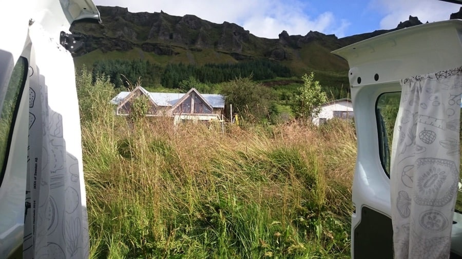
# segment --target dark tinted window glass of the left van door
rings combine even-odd
[[[20,58],[13,68],[6,90],[2,89],[3,91],[0,92],[4,94],[1,98],[3,102],[0,107],[0,168],[2,170],[0,183],[5,174],[13,125],[26,82],[27,68],[27,60],[23,57]],[[2,88],[3,87],[5,86],[2,86]]]

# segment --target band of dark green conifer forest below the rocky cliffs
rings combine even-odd
[[[221,83],[250,75],[254,80],[292,76],[289,68],[264,59],[204,66],[179,63],[168,64],[165,68],[143,60],[97,60],[93,64],[92,71],[93,77],[105,74],[116,86],[124,84],[125,87],[126,79],[136,82],[139,77],[146,86],[161,84],[165,88],[179,88],[181,81],[191,77],[202,83]]]

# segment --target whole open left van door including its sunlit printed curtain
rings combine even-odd
[[[0,258],[88,257],[79,106],[69,51],[91,0],[0,9]]]

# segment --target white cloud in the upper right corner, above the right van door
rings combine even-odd
[[[422,23],[448,20],[449,15],[460,8],[460,5],[436,0],[375,0],[372,5],[384,15],[380,29],[396,28],[399,21],[408,20],[409,15],[417,16]]]

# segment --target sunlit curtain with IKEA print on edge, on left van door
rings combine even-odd
[[[87,258],[79,105],[70,53],[30,27],[24,258]]]

